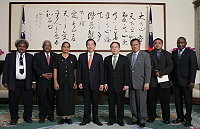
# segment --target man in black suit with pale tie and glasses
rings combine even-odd
[[[120,44],[118,42],[112,42],[110,48],[112,55],[104,60],[105,90],[108,90],[109,104],[107,125],[117,122],[120,126],[124,126],[124,95],[130,84],[129,61],[126,56],[119,54]],[[117,118],[115,104],[117,104]]]

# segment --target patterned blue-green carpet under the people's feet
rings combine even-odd
[[[175,107],[174,105],[170,106],[171,108],[171,119],[176,118],[176,112],[175,112]],[[129,109],[129,105],[125,105],[125,119],[124,122],[127,123],[128,121],[131,120],[131,112]],[[0,105],[0,128],[8,128],[12,127],[13,129],[86,129],[86,128],[101,128],[102,126],[96,126],[92,122],[86,126],[79,126],[78,124],[82,121],[82,116],[83,116],[83,106],[82,105],[77,105],[76,106],[76,112],[75,115],[72,117],[73,124],[72,125],[58,125],[57,122],[59,121],[59,117],[56,118],[56,122],[49,122],[48,120],[45,121],[44,124],[38,123],[38,107],[34,106],[33,110],[33,124],[28,124],[25,123],[22,119],[22,114],[23,114],[23,106],[20,106],[20,119],[19,119],[19,124],[15,126],[9,125],[9,110],[8,110],[8,105]],[[158,106],[157,110],[157,115],[161,116],[161,110],[160,106]],[[166,125],[162,122],[161,117],[158,117],[155,122],[153,123],[146,123],[146,127],[144,129],[200,129],[200,105],[194,105],[193,106],[193,112],[192,112],[192,127],[186,128],[183,125],[173,125],[169,124]],[[130,129],[138,129],[139,127],[137,125],[129,126],[125,125],[124,127],[120,127],[117,124],[114,124],[113,126],[107,126],[106,123],[108,121],[108,106],[107,105],[100,105],[99,106],[99,119],[100,121],[103,122],[103,128],[104,129],[121,129],[121,128],[130,128]]]

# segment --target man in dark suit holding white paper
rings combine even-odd
[[[153,122],[156,118],[157,98],[160,98],[162,118],[165,124],[170,123],[170,83],[168,81],[158,82],[158,78],[168,77],[173,70],[172,56],[162,49],[163,40],[154,40],[154,49],[149,52],[151,58],[151,80],[147,91],[147,122]]]

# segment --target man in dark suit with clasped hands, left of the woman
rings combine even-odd
[[[53,87],[53,61],[55,53],[51,52],[51,42],[45,40],[43,51],[34,55],[33,69],[36,74],[37,95],[39,105],[39,123],[44,123],[45,118],[54,122],[54,87]]]

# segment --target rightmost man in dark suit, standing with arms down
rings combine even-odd
[[[186,48],[187,42],[184,37],[177,40],[178,50],[172,52],[174,70],[172,72],[175,91],[175,105],[177,119],[173,123],[184,122],[186,127],[191,126],[192,90],[197,70],[197,58],[193,50]],[[183,97],[186,104],[186,114],[183,112]]]

